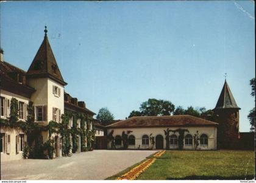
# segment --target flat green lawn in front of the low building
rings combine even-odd
[[[254,179],[254,151],[166,151],[138,179]]]

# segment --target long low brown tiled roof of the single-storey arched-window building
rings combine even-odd
[[[211,122],[190,115],[178,116],[140,116],[108,125],[107,128],[143,128],[143,127],[171,127],[171,126],[216,126]]]

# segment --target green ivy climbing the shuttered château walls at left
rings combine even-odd
[[[7,119],[1,119],[1,126],[10,127],[10,128],[21,128],[25,134],[27,134],[27,143],[24,147],[23,157],[24,158],[48,158],[52,159],[54,154],[54,140],[51,139],[53,133],[60,133],[62,136],[62,155],[71,156],[71,147],[72,152],[75,153],[78,148],[77,134],[81,137],[81,151],[86,151],[85,147],[85,137],[87,137],[87,142],[90,144],[94,140],[94,131],[85,130],[85,121],[90,123],[92,118],[87,117],[80,112],[71,112],[65,110],[62,115],[62,123],[57,123],[50,121],[46,126],[40,126],[38,123],[35,123],[34,116],[34,107],[33,103],[29,102],[27,105],[27,120],[26,122],[18,120],[18,100],[12,98],[10,102],[10,117]],[[68,128],[69,119],[73,117],[73,126],[71,129]],[[80,119],[80,128],[77,126],[77,119]],[[43,137],[41,132],[49,132],[49,140],[43,143]],[[90,132],[90,138],[87,136],[87,132]],[[70,136],[73,138],[73,145],[70,142]]]

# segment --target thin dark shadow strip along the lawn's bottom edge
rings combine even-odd
[[[184,178],[166,178],[166,180],[255,180],[255,175],[247,176],[187,176]]]

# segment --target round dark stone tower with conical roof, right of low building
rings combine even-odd
[[[218,148],[235,148],[239,139],[239,110],[225,79],[215,106],[214,119],[218,125]]]

